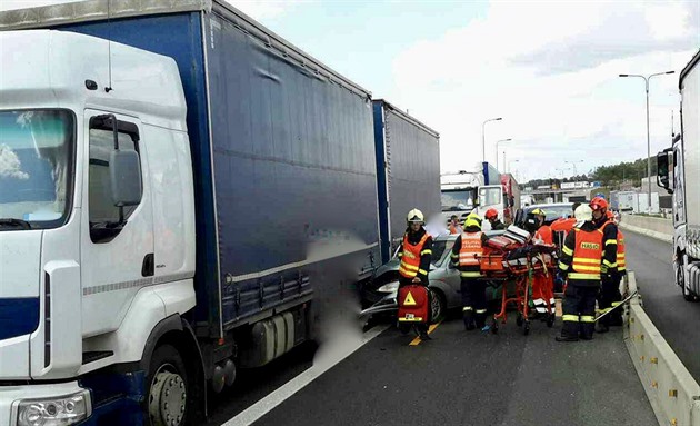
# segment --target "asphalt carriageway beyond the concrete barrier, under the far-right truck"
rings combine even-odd
[[[686,301],[673,281],[671,245],[629,230],[624,231],[624,244],[644,311],[700,382],[700,304]]]

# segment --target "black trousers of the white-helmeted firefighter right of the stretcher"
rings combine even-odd
[[[562,337],[592,338],[596,329],[596,297],[600,286],[569,280],[562,303]]]

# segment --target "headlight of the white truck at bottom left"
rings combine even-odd
[[[17,426],[72,425],[92,414],[88,390],[54,398],[21,399],[16,404]]]

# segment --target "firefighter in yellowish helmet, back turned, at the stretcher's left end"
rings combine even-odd
[[[452,246],[452,266],[459,269],[462,293],[462,318],[470,331],[483,328],[487,317],[486,281],[481,278],[480,257],[487,237],[481,232],[481,218],[471,212],[464,220],[464,230]]]

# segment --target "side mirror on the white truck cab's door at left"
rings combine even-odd
[[[116,207],[141,202],[141,167],[133,150],[113,150],[109,157],[112,202]]]

